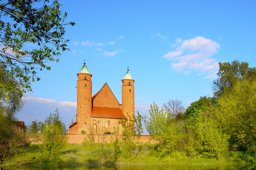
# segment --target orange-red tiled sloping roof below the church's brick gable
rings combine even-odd
[[[91,117],[126,118],[119,107],[92,106]]]

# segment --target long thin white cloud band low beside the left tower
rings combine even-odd
[[[53,104],[60,104],[61,106],[76,107],[76,103],[71,101],[57,101],[53,99],[45,99],[41,97],[32,97],[32,96],[22,97],[22,99],[25,101],[34,100],[34,101],[38,101],[39,103],[47,103],[47,104],[53,103]]]

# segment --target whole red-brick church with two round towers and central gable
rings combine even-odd
[[[134,80],[129,69],[122,79],[122,104],[119,104],[107,83],[92,96],[92,74],[85,63],[77,74],[77,114],[68,134],[113,134],[122,132],[121,118],[134,116]]]

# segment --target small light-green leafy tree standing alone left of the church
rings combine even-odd
[[[42,125],[42,145],[41,149],[47,159],[56,160],[66,146],[66,126],[61,122],[58,108],[55,113],[50,113]]]

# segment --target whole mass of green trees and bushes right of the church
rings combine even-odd
[[[228,151],[256,154],[256,69],[246,62],[219,63],[213,96],[201,97],[185,112],[179,100],[150,106],[146,129],[162,155],[186,152],[222,159]]]

